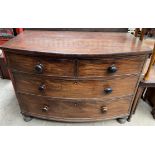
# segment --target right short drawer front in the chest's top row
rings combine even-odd
[[[144,60],[144,56],[128,59],[80,60],[78,75],[79,77],[107,77],[139,74]]]

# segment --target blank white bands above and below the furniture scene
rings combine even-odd
[[[0,0],[0,28],[153,28],[154,0]],[[151,127],[0,127],[0,154],[153,154]]]

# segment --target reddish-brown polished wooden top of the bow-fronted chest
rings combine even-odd
[[[129,33],[24,31],[1,46],[4,50],[56,55],[117,55],[151,53]]]

